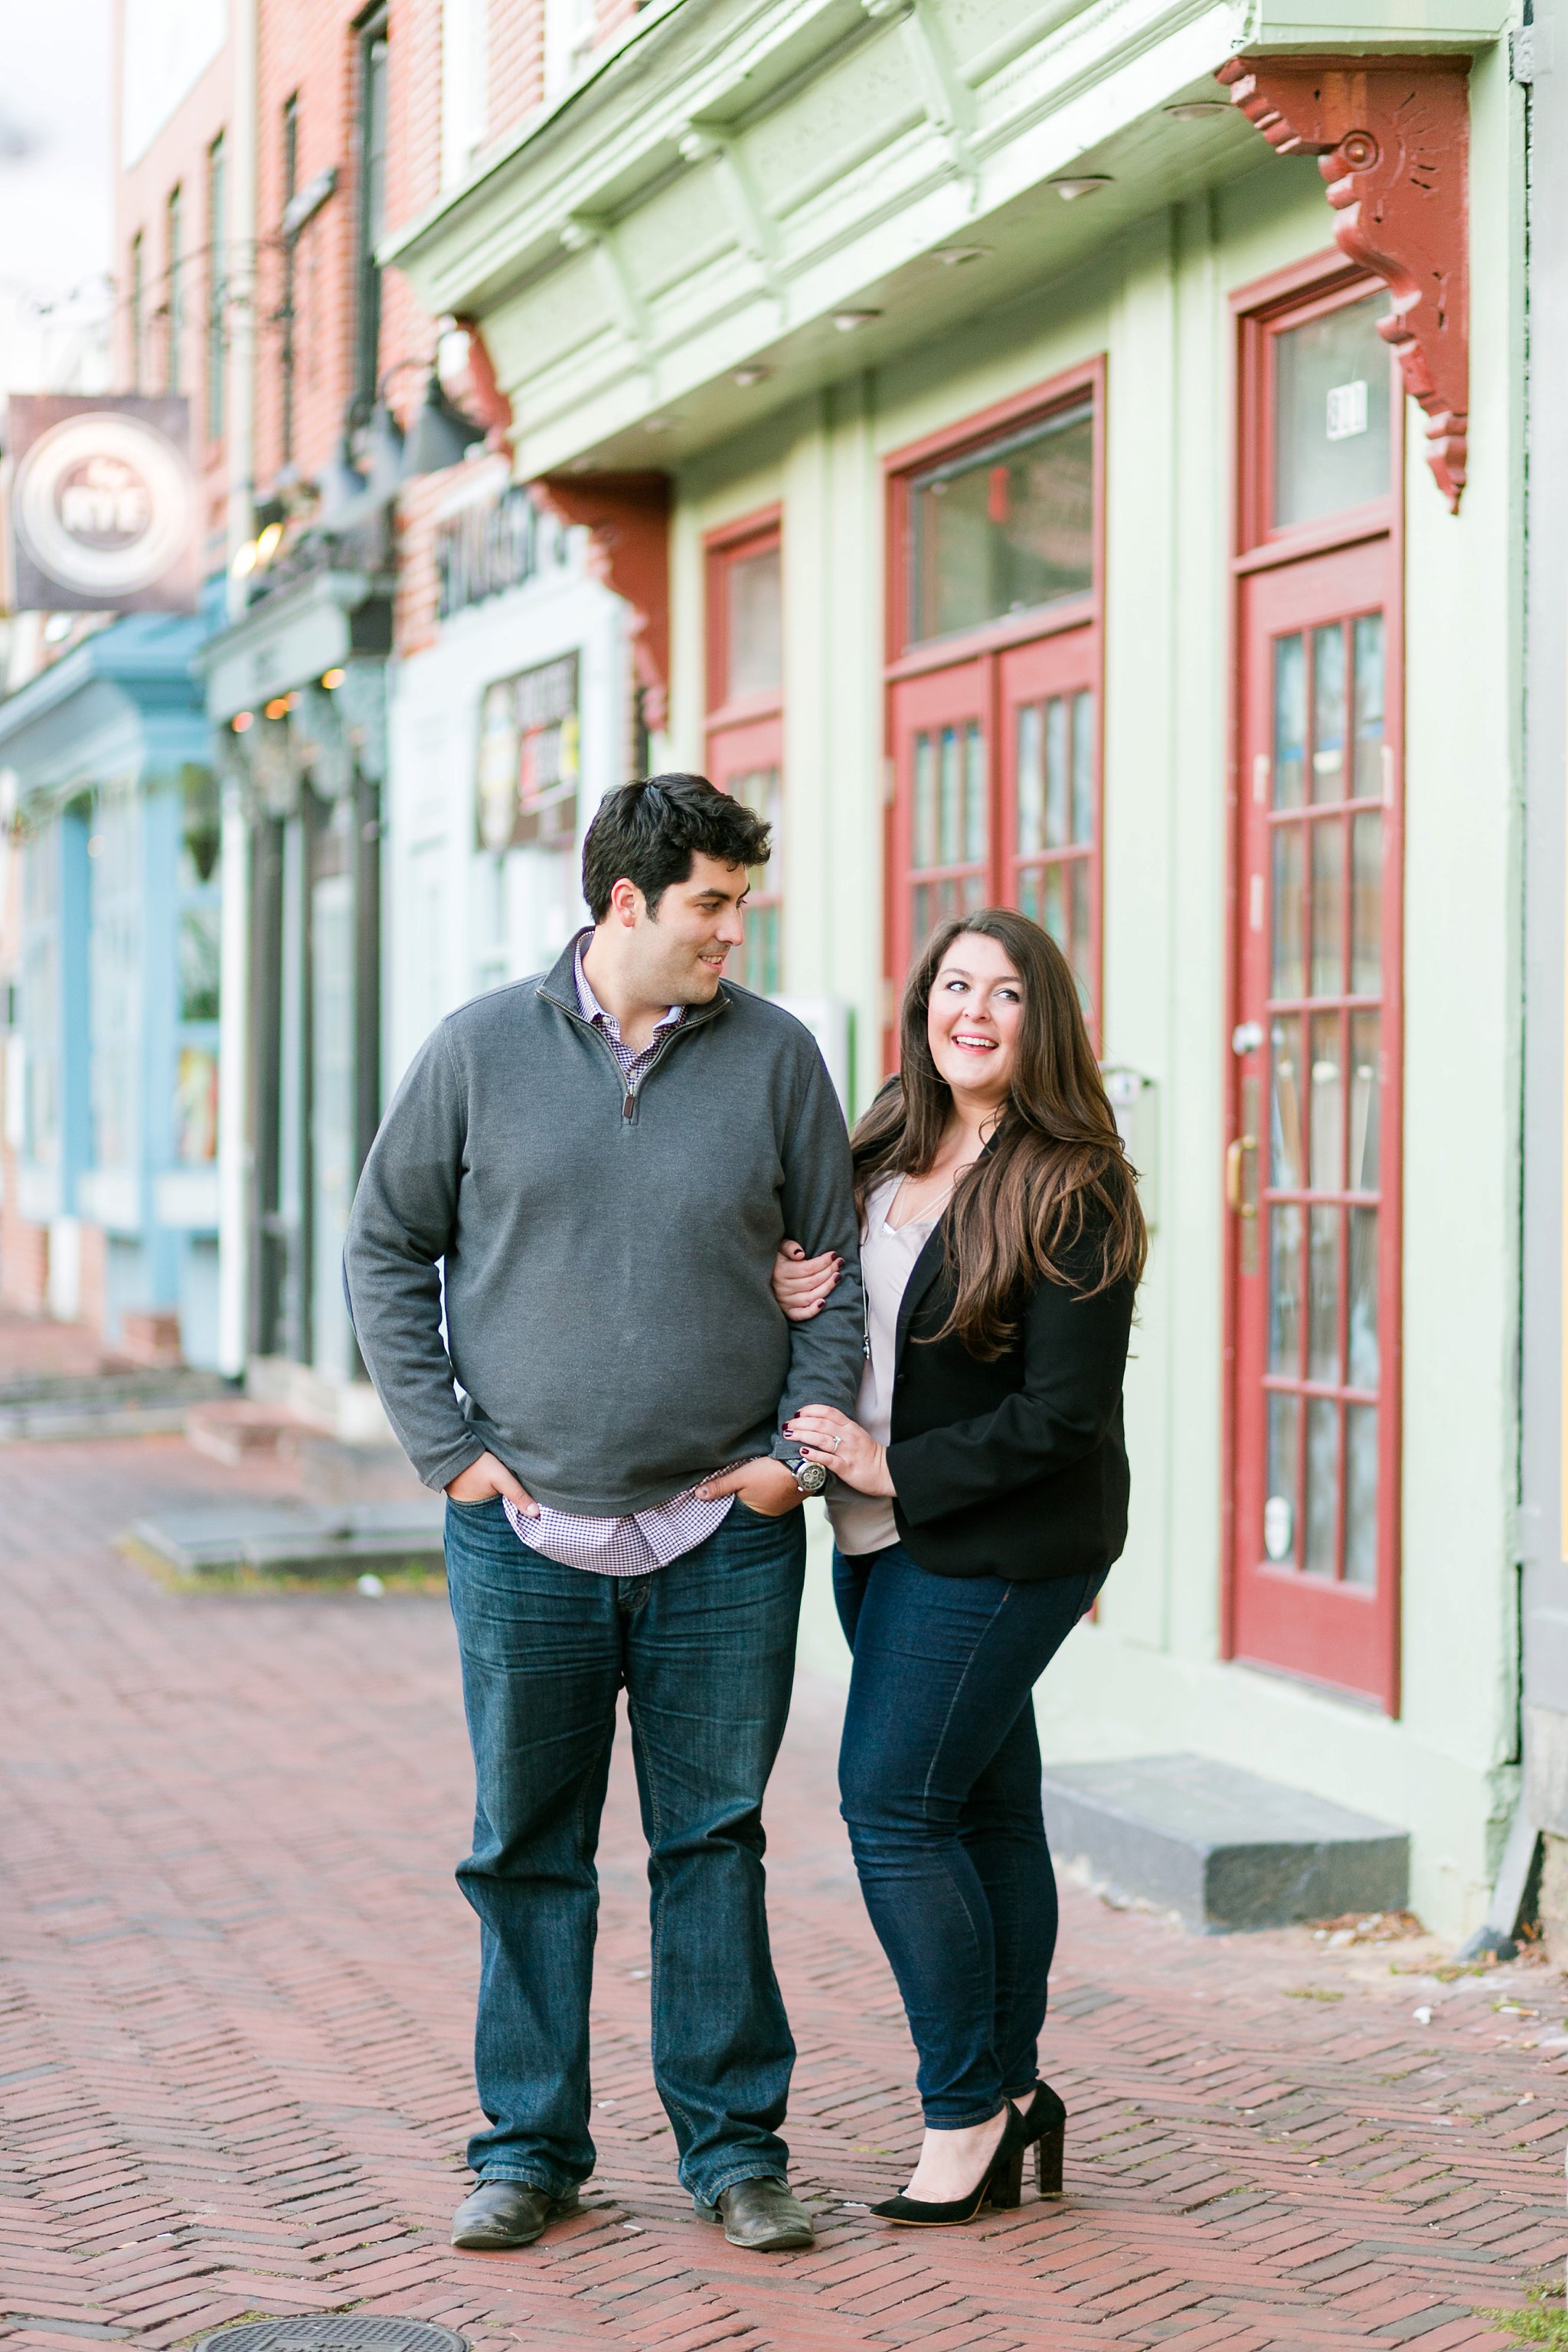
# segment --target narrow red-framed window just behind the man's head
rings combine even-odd
[[[773,828],[745,903],[733,978],[783,988],[783,543],[776,515],[708,541],[708,774]]]

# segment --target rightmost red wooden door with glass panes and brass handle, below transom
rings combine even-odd
[[[1232,1649],[1396,1708],[1389,541],[1241,586]]]

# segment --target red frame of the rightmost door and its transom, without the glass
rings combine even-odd
[[[1237,325],[1237,480],[1232,543],[1232,757],[1229,757],[1229,920],[1227,920],[1227,1235],[1225,1235],[1225,1564],[1222,1653],[1321,1682],[1399,1715],[1399,1508],[1401,1508],[1401,1094],[1403,1094],[1403,397],[1392,376],[1389,496],[1338,515],[1276,529],[1274,513],[1274,339],[1284,327],[1359,301],[1378,280],[1347,268],[1340,254],[1314,256],[1232,296]],[[1378,1169],[1378,1515],[1375,1585],[1309,1576],[1262,1557],[1258,1519],[1267,1484],[1267,1254],[1269,1254],[1269,1040],[1265,1009],[1274,976],[1274,793],[1272,774],[1274,642],[1312,635],[1333,621],[1354,623],[1380,609],[1385,628],[1382,731],[1382,898],[1380,898],[1380,1169]],[[1349,746],[1347,746],[1349,750]],[[1262,797],[1258,793],[1262,790]],[[1347,776],[1347,800],[1349,776]],[[1307,823],[1333,816],[1312,804]],[[1293,818],[1288,818],[1293,823]],[[1307,837],[1307,835],[1305,835]],[[1349,887],[1349,884],[1347,884]],[[1349,898],[1345,903],[1349,927]],[[1349,967],[1347,967],[1349,971]],[[1316,978],[1302,976],[1316,1000]],[[1284,1002],[1284,1000],[1281,1000]],[[1305,1002],[1305,1000],[1302,1000]],[[1338,995],[1321,997],[1333,1016]],[[1354,1002],[1354,1000],[1347,1000]],[[1288,1018],[1288,1016],[1286,1016]],[[1309,1021],[1302,1021],[1302,1040]],[[1251,1030],[1260,1044],[1248,1044]],[[1307,1058],[1312,1058],[1307,1054]],[[1349,1063],[1342,1058],[1345,1105]],[[1305,1075],[1305,1073],[1302,1073]],[[1347,1181],[1347,1178],[1345,1178]],[[1324,1195],[1302,1174],[1295,1190]],[[1284,1188],[1286,1200],[1293,1188]],[[1349,1197],[1349,1195],[1345,1195]],[[1307,1218],[1302,1214],[1302,1225]],[[1338,1315],[1347,1315],[1347,1261],[1340,1256]],[[1309,1312],[1305,1277],[1300,1315]],[[1345,1345],[1345,1338],[1340,1338]],[[1302,1357],[1302,1362],[1307,1362]],[[1345,1359],[1340,1357],[1342,1369]],[[1279,1385],[1274,1381],[1274,1385]],[[1284,1385],[1295,1385],[1293,1376]],[[1345,1383],[1328,1383],[1331,1392]],[[1309,1395],[1309,1388],[1305,1390]],[[1345,1529],[1345,1435],[1340,1437],[1338,1526]],[[1305,1444],[1305,1437],[1302,1437]],[[1293,1531],[1295,1559],[1305,1529]]]

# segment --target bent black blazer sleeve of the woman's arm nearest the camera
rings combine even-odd
[[[1037,1282],[1023,1329],[1023,1388],[990,1414],[889,1446],[898,1505],[912,1526],[1051,1477],[1110,1435],[1121,1404],[1133,1284],[1086,1298]]]

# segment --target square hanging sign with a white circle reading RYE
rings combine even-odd
[[[190,409],[12,393],[16,612],[195,612]]]

